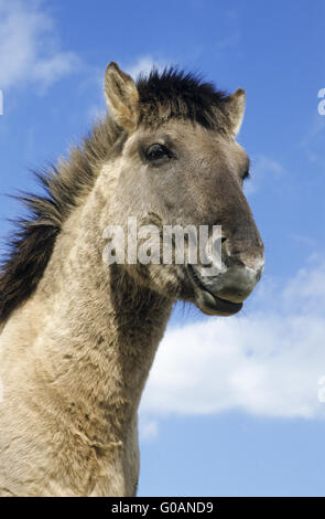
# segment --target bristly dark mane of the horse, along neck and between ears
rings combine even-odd
[[[151,126],[161,120],[181,118],[219,130],[227,124],[223,110],[226,94],[192,74],[175,67],[162,73],[154,68],[148,77],[140,76],[137,85],[139,124]],[[80,147],[72,150],[68,160],[58,162],[50,171],[36,173],[43,186],[43,195],[21,197],[30,216],[17,223],[7,257],[0,265],[0,325],[35,290],[63,222],[80,198],[89,192],[98,166],[121,135],[122,129],[107,116]]]

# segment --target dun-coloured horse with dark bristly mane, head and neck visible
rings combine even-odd
[[[231,316],[262,274],[236,141],[245,91],[175,66],[133,81],[113,62],[104,91],[91,133],[36,173],[43,194],[23,197],[1,266],[1,496],[134,496],[138,407],[175,301]],[[104,261],[105,230],[130,218],[221,229],[220,267]]]

